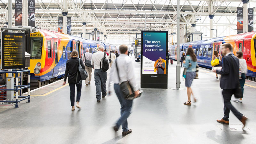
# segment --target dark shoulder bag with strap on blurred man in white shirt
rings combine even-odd
[[[117,67],[117,59],[116,59],[116,70],[117,70],[118,79],[120,81],[119,86],[120,86],[120,89],[123,93],[123,98],[125,100],[133,98],[134,97],[134,90],[132,88],[132,85],[130,84],[130,81],[127,80],[127,81],[121,82],[121,80],[120,80],[118,67]]]

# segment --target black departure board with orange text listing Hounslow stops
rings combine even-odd
[[[2,69],[25,68],[25,34],[2,32]]]

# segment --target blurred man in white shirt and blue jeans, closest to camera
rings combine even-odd
[[[121,54],[118,58],[116,58],[116,60],[113,61],[113,65],[110,70],[109,83],[110,81],[114,81],[116,96],[121,104],[121,117],[117,120],[116,125],[114,126],[114,130],[117,132],[120,125],[122,125],[122,135],[126,135],[132,132],[131,129],[128,129],[127,123],[127,118],[131,114],[132,100],[124,99],[119,83],[129,80],[133,90],[135,91],[135,98],[138,97],[139,90],[137,88],[134,67],[132,66],[131,58],[127,55],[128,47],[124,44],[120,45],[119,51],[121,52]]]

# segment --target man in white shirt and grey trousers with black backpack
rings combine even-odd
[[[92,62],[91,64],[94,66],[94,81],[96,86],[96,98],[97,102],[100,102],[101,99],[101,93],[102,98],[104,99],[107,95],[106,90],[106,81],[107,81],[107,72],[102,70],[102,58],[104,57],[104,47],[102,45],[99,46],[98,52],[95,52],[92,54]],[[105,57],[108,60],[108,56],[105,53]],[[101,61],[101,65],[100,65]],[[109,61],[108,61],[109,63]],[[100,92],[101,90],[101,92]]]

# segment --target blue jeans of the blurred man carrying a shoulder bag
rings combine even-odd
[[[132,100],[125,100],[123,98],[123,93],[121,92],[120,86],[118,84],[114,84],[114,89],[121,105],[121,117],[117,120],[116,125],[118,128],[120,125],[122,125],[123,132],[126,132],[129,131],[127,118],[131,114]]]

